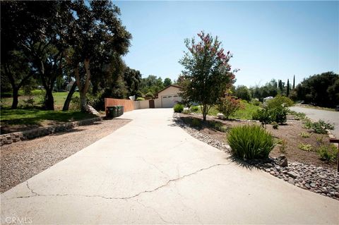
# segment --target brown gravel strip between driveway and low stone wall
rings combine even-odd
[[[104,138],[129,121],[121,118],[99,121],[66,132],[1,146],[1,193]]]

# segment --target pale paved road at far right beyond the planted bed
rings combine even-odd
[[[293,111],[302,112],[314,121],[321,119],[329,123],[334,123],[334,130],[331,130],[331,133],[333,133],[336,138],[339,138],[339,111],[309,109],[305,107],[290,107],[290,109]]]

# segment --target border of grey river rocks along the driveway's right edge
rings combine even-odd
[[[220,142],[220,140],[216,140],[210,135],[206,135],[206,133],[201,133],[195,128],[191,128],[180,119],[179,114],[174,114],[174,118],[176,118],[176,123],[186,130],[189,135],[231,156],[230,145],[227,145],[225,142]],[[286,159],[285,156],[247,162],[240,161],[239,159],[234,160],[242,164],[242,166],[256,166],[256,168],[299,188],[339,200],[339,172],[335,169],[327,169],[321,166],[302,164],[299,162],[287,162],[287,160],[285,165],[283,165],[282,162],[284,159]]]

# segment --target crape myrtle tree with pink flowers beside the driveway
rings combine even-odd
[[[179,61],[184,66],[180,95],[184,102],[200,104],[203,121],[206,121],[210,108],[222,100],[235,82],[237,69],[232,71],[229,63],[232,54],[224,53],[218,36],[213,38],[201,31],[198,42],[195,38],[185,39],[185,44],[188,51]]]

